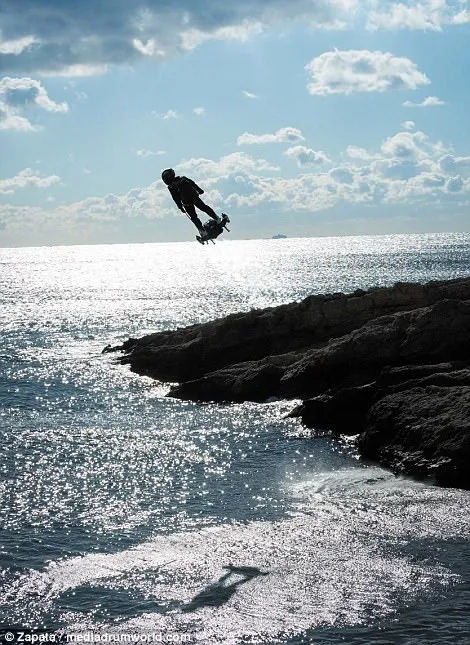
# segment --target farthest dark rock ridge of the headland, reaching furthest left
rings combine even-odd
[[[469,299],[470,279],[313,295],[298,303],[130,339],[115,350],[125,352],[120,360],[135,372],[183,382],[236,363],[311,350],[377,317],[443,298]]]

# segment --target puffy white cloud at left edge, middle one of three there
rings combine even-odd
[[[35,131],[34,126],[23,114],[23,110],[34,106],[47,112],[66,113],[67,103],[56,103],[47,94],[39,81],[32,78],[0,79],[0,130]]]

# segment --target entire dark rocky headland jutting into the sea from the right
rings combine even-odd
[[[304,423],[358,434],[365,457],[470,487],[470,278],[310,296],[106,350],[182,399],[302,398]]]

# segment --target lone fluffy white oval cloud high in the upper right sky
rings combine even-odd
[[[310,94],[352,94],[416,89],[430,80],[409,58],[389,52],[334,50],[317,56],[305,66]]]

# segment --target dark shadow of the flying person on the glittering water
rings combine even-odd
[[[205,587],[197,596],[194,596],[191,602],[183,605],[181,611],[187,613],[201,607],[220,607],[230,600],[240,585],[257,576],[268,575],[257,567],[235,567],[229,564],[224,569],[227,569],[227,573],[224,573],[217,582]]]

